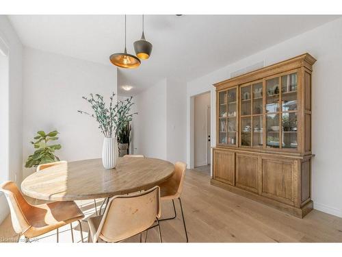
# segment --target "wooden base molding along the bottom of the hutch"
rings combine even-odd
[[[238,188],[236,186],[231,186],[229,184],[226,184],[224,182],[220,182],[218,180],[211,179],[211,184],[213,186],[218,186],[220,188],[224,188],[228,191],[231,191],[232,193],[236,193],[237,195],[241,195],[244,197],[247,197],[249,199],[252,199],[254,201],[259,201],[262,204],[265,204],[267,206],[276,208],[282,212],[286,212],[289,215],[293,215],[295,217],[298,217],[302,219],[305,215],[308,214],[308,212],[311,212],[313,210],[313,201],[308,201],[304,206],[301,208],[296,208],[295,206],[289,206],[288,204],[283,204],[279,201],[275,201],[273,199],[269,199],[267,197],[263,197],[261,195],[257,195],[255,193],[251,193],[249,191],[246,191],[244,189]]]

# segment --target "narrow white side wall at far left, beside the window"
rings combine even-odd
[[[21,182],[23,151],[22,51],[16,32],[6,16],[0,15],[0,38],[8,47],[8,173],[9,180]],[[6,118],[7,119],[7,118]],[[3,127],[1,126],[1,132]],[[8,205],[0,193],[0,223],[8,215]]]

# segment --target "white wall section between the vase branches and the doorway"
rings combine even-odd
[[[186,159],[186,84],[163,79],[133,97],[134,154],[170,162]]]

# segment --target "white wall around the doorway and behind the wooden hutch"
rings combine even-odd
[[[342,217],[342,138],[340,128],[342,95],[342,19],[326,23],[278,45],[248,56],[218,71],[199,77],[187,84],[187,160],[190,161],[191,136],[189,125],[191,96],[211,90],[212,146],[215,145],[215,91],[212,84],[230,77],[230,73],[250,64],[265,66],[287,60],[302,53],[317,59],[313,66],[313,153],[312,198],[314,208]]]

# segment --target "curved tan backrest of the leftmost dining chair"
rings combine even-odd
[[[27,221],[29,212],[32,206],[27,203],[16,184],[12,181],[1,184],[0,191],[2,191],[8,201],[11,211],[11,219],[14,231],[18,234],[23,234],[31,225]]]

